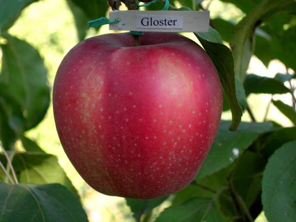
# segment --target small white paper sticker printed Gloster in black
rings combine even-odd
[[[182,29],[183,16],[136,15],[137,28],[142,29]]]

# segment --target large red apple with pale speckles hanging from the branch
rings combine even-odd
[[[62,146],[97,191],[152,199],[194,179],[222,111],[217,70],[177,34],[88,38],[69,51],[54,81]]]

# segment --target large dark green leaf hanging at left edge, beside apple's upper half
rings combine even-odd
[[[5,93],[21,107],[23,130],[35,127],[44,117],[50,101],[47,71],[37,50],[27,42],[4,36],[0,83]],[[9,101],[6,101],[9,106]],[[19,132],[20,133],[20,132]]]

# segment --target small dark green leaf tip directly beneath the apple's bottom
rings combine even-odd
[[[136,221],[140,221],[142,214],[146,214],[153,210],[153,208],[160,205],[167,199],[167,196],[151,200],[139,200],[132,198],[125,198],[127,205],[131,208],[133,216]]]

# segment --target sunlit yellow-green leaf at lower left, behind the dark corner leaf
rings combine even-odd
[[[6,159],[0,155],[0,161],[5,165]],[[63,168],[59,165],[56,156],[44,152],[16,153],[12,165],[20,183],[23,184],[50,184],[59,183],[65,185],[74,194],[78,193],[68,179]],[[0,179],[5,175],[0,171]]]

